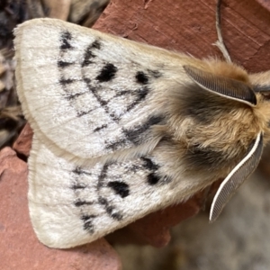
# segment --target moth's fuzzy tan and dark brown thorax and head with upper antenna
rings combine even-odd
[[[257,134],[269,140],[270,103],[243,68],[216,60],[202,65],[184,66],[191,80],[171,99],[170,133],[189,167],[228,173]]]

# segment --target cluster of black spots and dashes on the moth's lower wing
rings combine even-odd
[[[90,234],[94,234],[95,232],[94,220],[100,217],[99,214],[91,214],[92,209],[95,209],[95,205],[102,207],[103,211],[105,211],[105,213],[112,220],[120,221],[125,218],[126,214],[124,205],[121,206],[121,202],[118,200],[115,200],[114,202],[113,193],[116,194],[116,196],[121,197],[122,200],[125,200],[126,197],[130,196],[132,191],[130,190],[130,184],[122,180],[125,177],[121,174],[121,171],[119,172],[119,176],[117,174],[115,175],[114,170],[117,169],[115,166],[125,166],[125,162],[123,162],[122,165],[118,162],[108,162],[104,164],[103,167],[100,168],[97,183],[94,184],[92,181],[89,183],[80,183],[80,181],[85,181],[81,180],[85,179],[85,175],[92,175],[91,170],[87,171],[80,166],[76,166],[76,168],[72,171],[74,174],[75,184],[73,184],[71,188],[74,190],[76,198],[74,201],[74,206],[80,211],[80,220],[83,221],[83,228]],[[134,163],[133,166],[130,164],[129,166],[125,167],[124,172],[127,174],[138,174],[139,171],[143,172],[145,177],[145,184],[148,184],[148,186],[166,184],[171,181],[171,179],[166,175],[160,175],[158,172],[159,168],[160,166],[156,164],[155,161],[150,157],[139,157],[139,162],[137,159],[137,163]],[[115,179],[120,180],[113,181],[112,175],[115,175]],[[122,176],[123,178],[121,178]],[[87,191],[83,193],[83,196],[80,196],[80,193],[76,193],[80,192],[80,190],[84,190],[85,188],[96,189],[97,197],[95,197],[94,201],[88,199]],[[108,188],[112,190],[111,194],[108,193]],[[103,211],[101,211],[101,215],[104,214]]]

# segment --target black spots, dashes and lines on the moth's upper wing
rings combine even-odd
[[[103,64],[103,67],[101,68],[99,74],[95,77],[91,77],[91,72],[88,71],[84,72],[82,69],[82,78],[68,78],[65,76],[65,68],[69,68],[71,65],[77,65],[79,63],[72,63],[71,61],[68,62],[68,54],[66,55],[67,49],[74,49],[76,48],[76,45],[73,47],[73,38],[72,34],[70,32],[64,31],[60,36],[60,49],[61,52],[59,54],[58,59],[58,67],[59,71],[63,72],[62,77],[59,80],[59,84],[63,86],[63,90],[67,93],[67,95],[64,96],[68,101],[70,101],[70,105],[74,106],[76,105],[76,101],[79,97],[84,96],[85,98],[89,93],[94,94],[94,98],[96,99],[96,104],[93,108],[91,107],[76,107],[77,117],[83,117],[86,114],[90,114],[91,112],[94,112],[98,108],[103,108],[104,113],[107,114],[107,116],[110,117],[111,121],[102,122],[100,126],[96,126],[93,129],[93,132],[98,132],[100,130],[103,130],[103,132],[106,132],[106,129],[110,129],[112,127],[113,122],[118,124],[121,121],[121,117],[126,113],[130,112],[133,109],[135,109],[139,103],[143,102],[147,99],[148,94],[150,92],[150,89],[148,87],[148,81],[152,77],[158,77],[161,76],[160,73],[157,70],[150,70],[147,69],[145,71],[141,70],[134,74],[134,78],[137,81],[138,88],[137,89],[126,89],[125,87],[123,89],[110,89],[110,86],[106,86],[106,91],[113,91],[115,94],[113,94],[110,98],[105,99],[106,96],[104,96],[103,92],[105,91],[103,85],[96,84],[96,80],[99,83],[109,82],[111,81],[115,76],[117,76],[117,67],[113,65],[113,63],[105,63]],[[101,65],[103,62],[100,58],[96,58],[94,51],[97,49],[102,49],[103,43],[100,40],[94,40],[94,42],[90,43],[86,48],[84,52],[84,57],[80,63],[82,67],[85,67],[87,65],[90,65],[92,62],[97,62],[98,65]],[[64,50],[63,50],[64,49]],[[96,60],[95,60],[96,58]],[[95,63],[96,64],[96,63]],[[63,70],[63,71],[62,71]],[[81,81],[85,82],[85,85],[88,89],[88,91],[85,91],[84,88],[80,89],[78,88],[77,91],[75,90],[75,86],[72,84],[76,83],[76,85],[81,85]],[[77,86],[76,86],[77,87]],[[108,90],[107,90],[108,87]],[[127,103],[126,107],[122,107],[122,112],[119,113],[119,111],[115,111],[113,107],[113,101],[117,102],[117,100],[123,96],[123,99],[125,96],[127,96],[127,100],[129,100],[129,103]],[[93,98],[91,96],[91,98]],[[80,100],[82,100],[83,97],[81,97]],[[121,100],[121,98],[119,99]],[[117,114],[115,113],[117,112]],[[155,123],[152,123],[155,124]],[[117,150],[123,147],[126,147],[130,145],[130,143],[134,145],[139,145],[140,140],[143,139],[142,135],[139,135],[139,132],[145,133],[150,128],[151,123],[146,122],[142,123],[141,125],[138,125],[134,127],[132,130],[122,130],[122,136],[121,138],[117,138],[117,141],[110,141],[110,143],[106,143],[104,140],[104,143],[106,143],[105,149],[110,150]],[[139,135],[139,138],[138,138]]]

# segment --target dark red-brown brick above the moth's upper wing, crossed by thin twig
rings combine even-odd
[[[255,0],[224,0],[221,15],[231,58],[248,71],[270,69],[269,12]],[[94,28],[197,58],[221,58],[211,45],[217,39],[214,0],[114,0]]]

